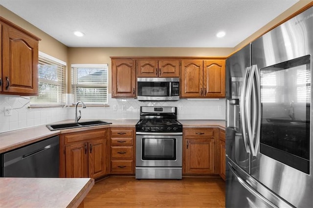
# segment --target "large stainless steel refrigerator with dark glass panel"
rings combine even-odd
[[[226,207],[313,206],[313,7],[226,60]]]

